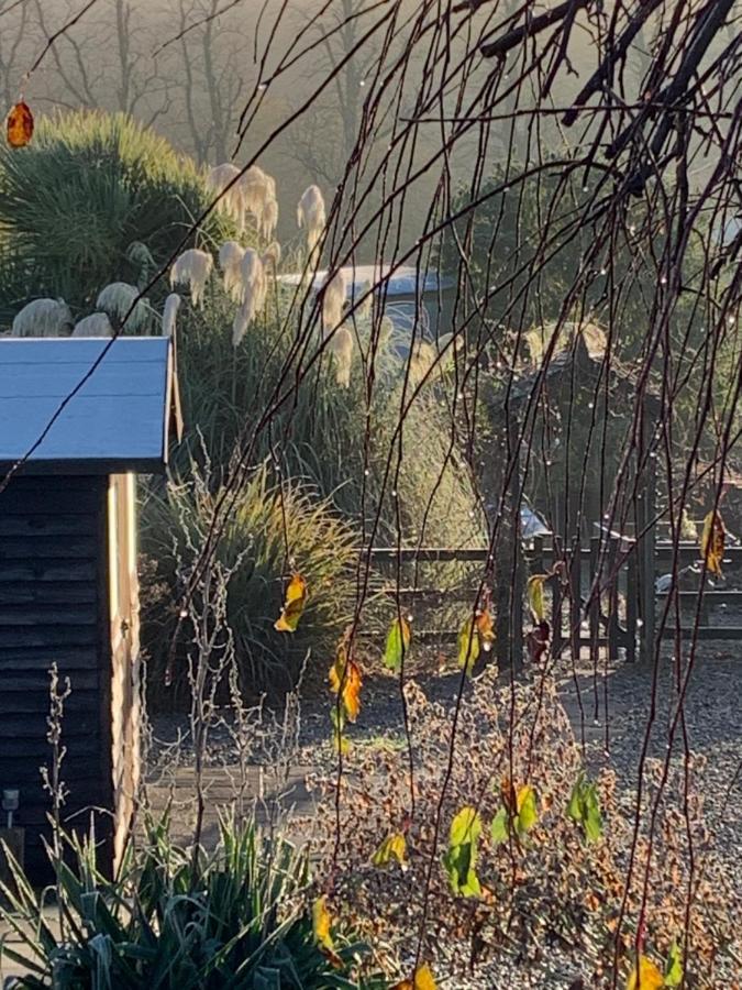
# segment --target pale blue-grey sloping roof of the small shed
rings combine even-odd
[[[171,427],[179,436],[169,338],[0,339],[5,469],[27,455],[29,473],[159,472]]]

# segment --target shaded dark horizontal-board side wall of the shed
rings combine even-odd
[[[25,864],[46,879],[51,769],[49,669],[69,681],[62,741],[63,817],[98,838],[110,835],[110,640],[106,542],[108,479],[19,476],[0,494],[0,787],[20,789],[16,824]]]

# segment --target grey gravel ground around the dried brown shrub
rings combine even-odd
[[[558,671],[560,693],[573,722],[577,739],[584,738],[585,754],[594,767],[610,766],[616,770],[620,806],[631,817],[634,812],[638,763],[642,741],[647,730],[647,719],[654,697],[655,716],[647,741],[647,755],[663,758],[667,752],[668,729],[677,705],[675,664],[666,656],[656,679],[651,670],[638,664],[614,663],[597,674],[583,661],[576,671],[568,660],[562,661]],[[655,683],[653,683],[656,681]],[[419,678],[430,698],[451,703],[457,690],[457,674],[429,674]],[[605,700],[608,698],[608,718]],[[697,792],[705,798],[705,824],[715,835],[715,848],[722,869],[731,878],[734,888],[742,891],[742,656],[735,646],[729,649],[699,649],[693,676],[685,700],[685,728],[694,757],[704,757],[705,766],[695,780]],[[386,739],[399,745],[401,706],[398,686],[389,678],[367,678],[364,683],[364,712],[366,717],[354,726],[355,740]],[[608,728],[606,728],[606,726]],[[178,732],[185,734],[180,757],[188,762],[190,749],[187,738],[187,721],[180,716],[159,716],[153,723],[155,737],[171,741]],[[303,766],[317,766],[326,754],[329,736],[326,698],[308,700],[301,705],[298,760]],[[233,744],[229,733],[218,729],[212,734],[209,761],[214,766],[229,765],[233,760]],[[163,756],[162,743],[154,749],[154,757]],[[259,759],[259,755],[257,756]],[[673,745],[672,766],[682,768],[684,759],[683,736],[677,732]],[[740,949],[742,952],[742,949]],[[506,990],[506,988],[571,988],[587,982],[579,979],[579,968],[571,955],[558,946],[549,949],[546,977],[540,966],[511,968],[498,960],[478,981],[458,983],[456,990]],[[453,983],[445,986],[453,988]],[[733,981],[719,983],[719,988],[733,988]]]

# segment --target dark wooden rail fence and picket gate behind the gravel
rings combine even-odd
[[[675,552],[671,542],[635,542],[629,537],[597,537],[587,546],[566,551],[558,539],[534,539],[524,550],[524,568],[516,572],[520,586],[513,587],[510,604],[513,654],[522,656],[524,632],[530,625],[530,617],[524,614],[525,581],[531,574],[551,573],[545,587],[554,656],[569,649],[573,656],[587,650],[593,660],[600,651],[607,651],[611,659],[623,657],[629,662],[651,660],[657,622],[666,601],[666,595],[655,591],[655,579],[657,574],[671,571]],[[416,640],[434,645],[454,642],[466,607],[472,606],[477,594],[489,550],[380,547],[369,553],[372,566],[383,579],[385,593],[389,597],[399,596],[400,605],[416,618],[423,616],[423,625],[416,627]],[[700,565],[696,543],[682,543],[677,556],[679,568],[694,562]],[[557,562],[563,562],[564,566],[555,571]],[[464,575],[452,587],[431,576],[436,565],[452,564],[462,565],[462,570],[465,570],[464,565],[470,565],[468,580]],[[742,568],[742,547],[727,549],[724,566],[730,571]],[[421,574],[424,575],[422,580]],[[600,588],[599,595],[593,593],[595,587]],[[695,634],[698,640],[742,640],[742,625],[712,622],[715,607],[726,605],[739,609],[738,623],[742,623],[742,591],[706,586],[700,595],[700,623],[695,629],[695,605],[699,602],[700,591],[684,590],[677,594],[683,618],[687,619],[687,625],[684,624],[680,630],[684,639]],[[458,624],[451,623],[444,628],[425,627],[424,617],[442,606],[446,606],[448,614],[457,615]],[[675,638],[676,623],[672,614],[661,632],[664,639]]]

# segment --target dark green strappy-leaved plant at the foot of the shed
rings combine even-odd
[[[174,845],[168,822],[151,824],[120,876],[98,869],[95,844],[69,840],[74,868],[55,862],[63,932],[56,934],[22,872],[4,888],[0,914],[24,953],[5,948],[30,974],[15,988],[354,988],[366,954],[335,936],[335,957],[317,943],[306,856],[250,821],[222,823],[217,849],[193,856]],[[363,986],[381,986],[364,982]]]

